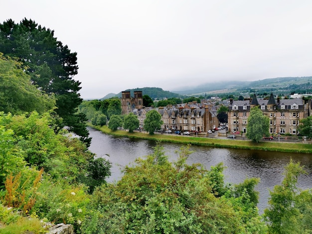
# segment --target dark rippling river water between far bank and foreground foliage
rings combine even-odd
[[[88,128],[92,142],[89,147],[90,151],[97,154],[97,157],[103,157],[111,161],[112,175],[107,179],[108,182],[114,183],[122,177],[122,168],[134,163],[137,157],[144,158],[153,152],[156,145],[154,141],[130,139],[126,137],[115,137],[104,134],[93,128]],[[187,136],[186,136],[187,137]],[[182,145],[163,142],[166,155],[169,161],[175,161],[175,153]],[[283,180],[284,167],[292,158],[295,162],[300,161],[301,165],[307,171],[298,180],[298,187],[301,189],[312,188],[312,154],[298,153],[281,153],[259,150],[241,150],[225,149],[207,146],[191,146],[194,151],[187,160],[188,164],[201,163],[206,169],[223,162],[226,169],[224,170],[224,181],[230,184],[238,184],[246,178],[258,177],[260,183],[256,190],[260,192],[259,213],[268,207],[269,191]],[[108,156],[109,155],[109,156]]]

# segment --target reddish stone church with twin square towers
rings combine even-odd
[[[136,108],[143,107],[142,91],[135,91],[134,97],[131,97],[130,91],[123,91],[121,97],[122,114],[126,115],[133,112]]]

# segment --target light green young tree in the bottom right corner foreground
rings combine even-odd
[[[312,232],[312,190],[298,193],[296,184],[301,174],[306,172],[300,162],[291,159],[285,167],[282,184],[270,191],[269,208],[264,211],[269,233]]]

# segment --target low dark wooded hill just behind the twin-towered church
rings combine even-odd
[[[150,96],[152,99],[156,99],[156,98],[177,98],[180,95],[176,94],[176,93],[171,93],[169,91],[164,91],[161,88],[150,88],[150,87],[145,87],[145,88],[136,88],[136,89],[128,89],[125,91],[130,91],[131,96],[134,96],[134,92],[135,91],[142,91],[143,95],[148,95]],[[118,94],[108,94],[105,97],[101,98],[101,100],[104,99],[109,99],[112,97],[118,97],[121,98],[122,92],[118,93]]]

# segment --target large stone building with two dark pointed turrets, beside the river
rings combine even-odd
[[[271,94],[268,100],[230,101],[228,112],[228,127],[230,132],[246,133],[248,117],[252,107],[259,106],[263,114],[270,119],[269,132],[271,134],[298,134],[300,120],[308,117],[309,104],[302,99],[274,99]]]

